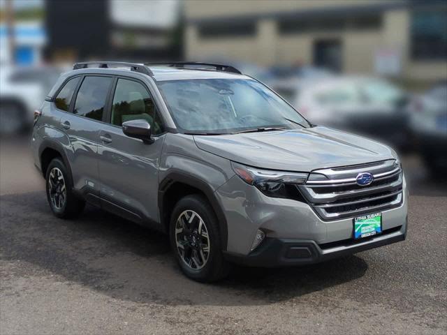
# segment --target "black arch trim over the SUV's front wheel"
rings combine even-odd
[[[223,210],[217,201],[216,195],[214,195],[214,190],[211,188],[209,184],[207,184],[202,179],[197,177],[192,177],[189,174],[185,174],[182,172],[170,172],[159,184],[159,214],[161,218],[162,225],[165,225],[164,216],[163,216],[163,204],[165,201],[166,192],[169,190],[170,186],[173,186],[176,182],[186,184],[193,188],[197,188],[202,191],[207,200],[210,202],[214,213],[217,216],[217,221],[219,223],[219,232],[221,235],[221,246],[222,250],[226,251],[227,241],[228,241],[228,225],[226,222],[225,215],[223,214]]]

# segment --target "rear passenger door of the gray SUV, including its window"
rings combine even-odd
[[[71,99],[68,112],[62,114],[61,129],[68,135],[68,161],[71,165],[73,185],[99,204],[98,136],[105,117],[105,103],[112,87],[113,77],[86,75],[80,78],[78,89]],[[67,107],[64,101],[58,101]]]

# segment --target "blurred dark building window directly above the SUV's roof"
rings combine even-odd
[[[198,34],[201,38],[253,36],[255,32],[254,22],[206,23],[198,26]]]

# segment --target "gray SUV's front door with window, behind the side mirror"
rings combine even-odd
[[[101,207],[133,221],[149,218],[159,222],[157,194],[165,137],[163,124],[144,83],[126,77],[115,82],[109,123],[98,134]],[[152,144],[124,135],[122,123],[134,119],[145,119],[151,124]]]

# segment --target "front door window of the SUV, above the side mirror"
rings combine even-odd
[[[119,79],[112,105],[112,124],[145,119],[152,126],[154,135],[162,133],[161,122],[156,117],[156,108],[147,89],[138,82]]]

